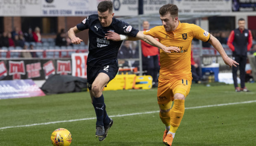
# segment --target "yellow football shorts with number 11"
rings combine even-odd
[[[190,92],[192,77],[179,76],[177,78],[165,79],[159,77],[157,89],[157,103],[165,104],[174,100],[176,93],[183,94],[185,97]]]

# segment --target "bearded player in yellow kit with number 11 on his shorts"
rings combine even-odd
[[[171,146],[175,132],[185,112],[185,98],[190,92],[192,82],[191,73],[191,42],[193,38],[209,42],[220,53],[225,64],[228,66],[238,65],[225,53],[218,39],[203,30],[201,27],[180,23],[178,20],[178,7],[167,4],[159,9],[162,26],[153,27],[143,33],[158,38],[159,42],[165,46],[178,47],[180,50],[171,53],[160,50],[160,71],[157,89],[157,101],[159,104],[159,115],[165,124],[163,142]],[[116,39],[118,36],[114,32],[107,34],[107,39]],[[128,38],[128,40],[135,40]],[[171,108],[172,101],[174,101]]]

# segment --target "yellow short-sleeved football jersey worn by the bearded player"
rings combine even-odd
[[[158,38],[159,42],[165,46],[176,46],[180,51],[165,53],[160,49],[160,72],[161,78],[175,78],[177,75],[192,75],[191,73],[191,42],[193,38],[204,42],[209,41],[210,34],[201,27],[180,23],[176,30],[166,32],[164,26],[156,26],[144,31],[144,34]]]

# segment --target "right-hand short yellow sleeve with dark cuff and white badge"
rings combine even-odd
[[[200,39],[201,41],[208,42],[210,40],[210,33],[206,30],[203,30],[201,27],[192,24],[193,37]]]

